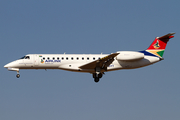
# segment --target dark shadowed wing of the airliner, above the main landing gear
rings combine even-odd
[[[82,65],[79,68],[81,69],[95,69],[96,67],[100,67],[101,69],[107,70],[107,67],[114,61],[114,57],[116,57],[119,53],[112,53],[107,55],[99,60],[90,62],[88,64]]]

